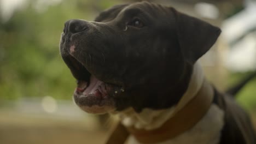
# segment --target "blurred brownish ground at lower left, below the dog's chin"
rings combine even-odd
[[[1,144],[103,143],[107,131],[79,121],[0,112]]]

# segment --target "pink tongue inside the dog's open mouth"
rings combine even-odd
[[[89,87],[87,87],[85,89],[85,91],[83,92],[84,95],[87,95],[87,94],[92,94],[94,93],[97,89],[100,89],[100,85],[102,84],[103,82],[98,80],[94,75],[91,75],[90,77],[90,85]]]

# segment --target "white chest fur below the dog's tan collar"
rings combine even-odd
[[[207,114],[190,130],[174,139],[154,144],[217,144],[224,125],[224,112],[212,104]],[[141,144],[130,136],[126,144]]]

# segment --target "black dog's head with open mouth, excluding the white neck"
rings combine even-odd
[[[186,91],[193,64],[220,29],[148,2],[116,5],[95,21],[69,20],[60,51],[78,86],[74,100],[91,113],[164,109]]]

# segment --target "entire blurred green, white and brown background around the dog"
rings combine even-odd
[[[75,80],[59,54],[68,19],[94,20],[107,0],[0,0],[0,143],[103,143],[107,116],[84,113],[72,102]],[[153,1],[154,2],[154,1]],[[218,89],[256,70],[256,1],[155,1],[222,28],[200,61]],[[256,79],[237,101],[256,124]]]

